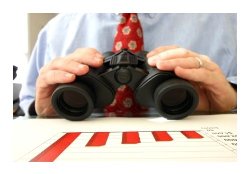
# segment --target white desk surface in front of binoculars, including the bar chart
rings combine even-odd
[[[15,119],[14,161],[235,161],[236,114]]]

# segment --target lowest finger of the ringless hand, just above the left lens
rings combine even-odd
[[[37,78],[37,87],[45,88],[58,83],[70,83],[76,78],[75,74],[61,70],[50,70],[42,73]]]

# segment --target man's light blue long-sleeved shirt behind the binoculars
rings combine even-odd
[[[236,14],[138,14],[144,49],[178,45],[209,56],[227,80],[237,84]],[[109,13],[59,14],[41,30],[33,49],[26,80],[20,92],[20,106],[26,114],[35,98],[35,82],[42,66],[80,47],[100,52],[112,50],[120,15]]]

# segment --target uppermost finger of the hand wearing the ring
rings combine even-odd
[[[152,57],[148,58],[148,63],[151,66],[155,66],[157,60],[169,60],[169,59],[176,59],[176,58],[187,58],[187,57],[196,57],[199,54],[187,50],[185,48],[175,48],[160,52]]]

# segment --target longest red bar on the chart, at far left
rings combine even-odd
[[[30,162],[53,162],[79,135],[80,132],[66,133]]]

